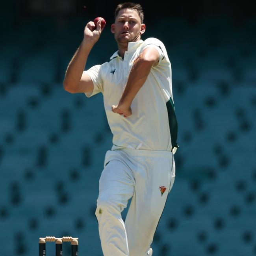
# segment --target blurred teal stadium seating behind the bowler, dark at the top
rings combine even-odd
[[[142,39],[157,37],[169,53],[179,123],[154,255],[256,255],[255,4],[137,2]],[[62,81],[89,20],[107,25],[87,68],[115,52],[117,3],[1,3],[1,256],[34,256],[40,236],[65,235],[79,237],[80,255],[102,255],[94,212],[111,133],[102,96],[69,94]]]

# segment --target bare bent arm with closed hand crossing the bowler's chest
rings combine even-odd
[[[153,47],[148,47],[135,59],[130,71],[124,92],[117,106],[112,106],[112,111],[128,117],[132,115],[131,104],[139,89],[147,80],[152,67],[157,65],[159,53]]]

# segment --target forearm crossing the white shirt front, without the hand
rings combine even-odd
[[[130,71],[128,81],[126,83],[124,92],[122,93],[119,104],[131,106],[134,97],[147,80],[152,64],[152,61],[145,61],[141,58],[138,58],[135,61]]]

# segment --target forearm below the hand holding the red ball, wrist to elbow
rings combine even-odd
[[[84,40],[82,41],[67,67],[63,81],[64,85],[76,85],[80,82],[87,58],[92,48],[93,44],[86,43]]]

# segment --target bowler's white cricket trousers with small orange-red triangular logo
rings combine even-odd
[[[95,211],[104,256],[148,255],[174,178],[172,152],[106,152]],[[121,212],[131,197],[124,222]]]

